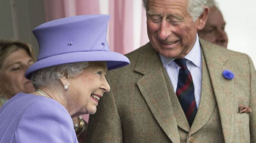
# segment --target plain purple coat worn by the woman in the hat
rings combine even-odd
[[[68,111],[57,101],[18,93],[0,108],[0,143],[78,143]]]

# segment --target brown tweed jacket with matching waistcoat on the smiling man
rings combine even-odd
[[[107,73],[111,91],[89,118],[87,143],[255,143],[256,72],[252,60],[200,39],[202,89],[191,127],[150,43]],[[228,69],[235,77],[228,80]],[[252,109],[238,113],[239,105]]]

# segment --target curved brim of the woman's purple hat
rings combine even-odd
[[[108,70],[121,68],[130,64],[129,59],[126,56],[112,51],[86,51],[64,53],[61,55],[50,56],[48,58],[44,58],[35,62],[27,69],[27,71],[25,72],[25,77],[27,79],[30,79],[32,72],[42,68],[86,61],[106,61]]]

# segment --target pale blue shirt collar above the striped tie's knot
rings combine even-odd
[[[167,57],[161,55],[161,53],[159,53],[159,56],[160,56],[160,59],[161,59],[163,65],[164,65],[164,67],[166,67],[173,60],[175,60],[175,59],[172,59],[172,58],[167,58]],[[195,44],[194,44],[193,48],[191,49],[191,51],[184,58],[191,61],[195,66],[197,66],[199,68],[201,67],[201,49],[200,49],[200,43],[199,43],[198,35],[196,37]]]

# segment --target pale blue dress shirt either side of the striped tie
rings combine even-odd
[[[179,69],[181,67],[174,62],[175,59],[166,58],[160,53],[159,53],[159,56],[164,65],[164,68],[167,71],[170,81],[172,82],[173,89],[176,92],[176,88],[178,84]],[[198,108],[200,103],[201,84],[202,84],[201,48],[199,44],[198,35],[197,35],[197,39],[195,41],[194,47],[184,58],[187,59],[186,65],[193,79],[194,88],[195,88],[195,101],[197,103],[197,108]]]

